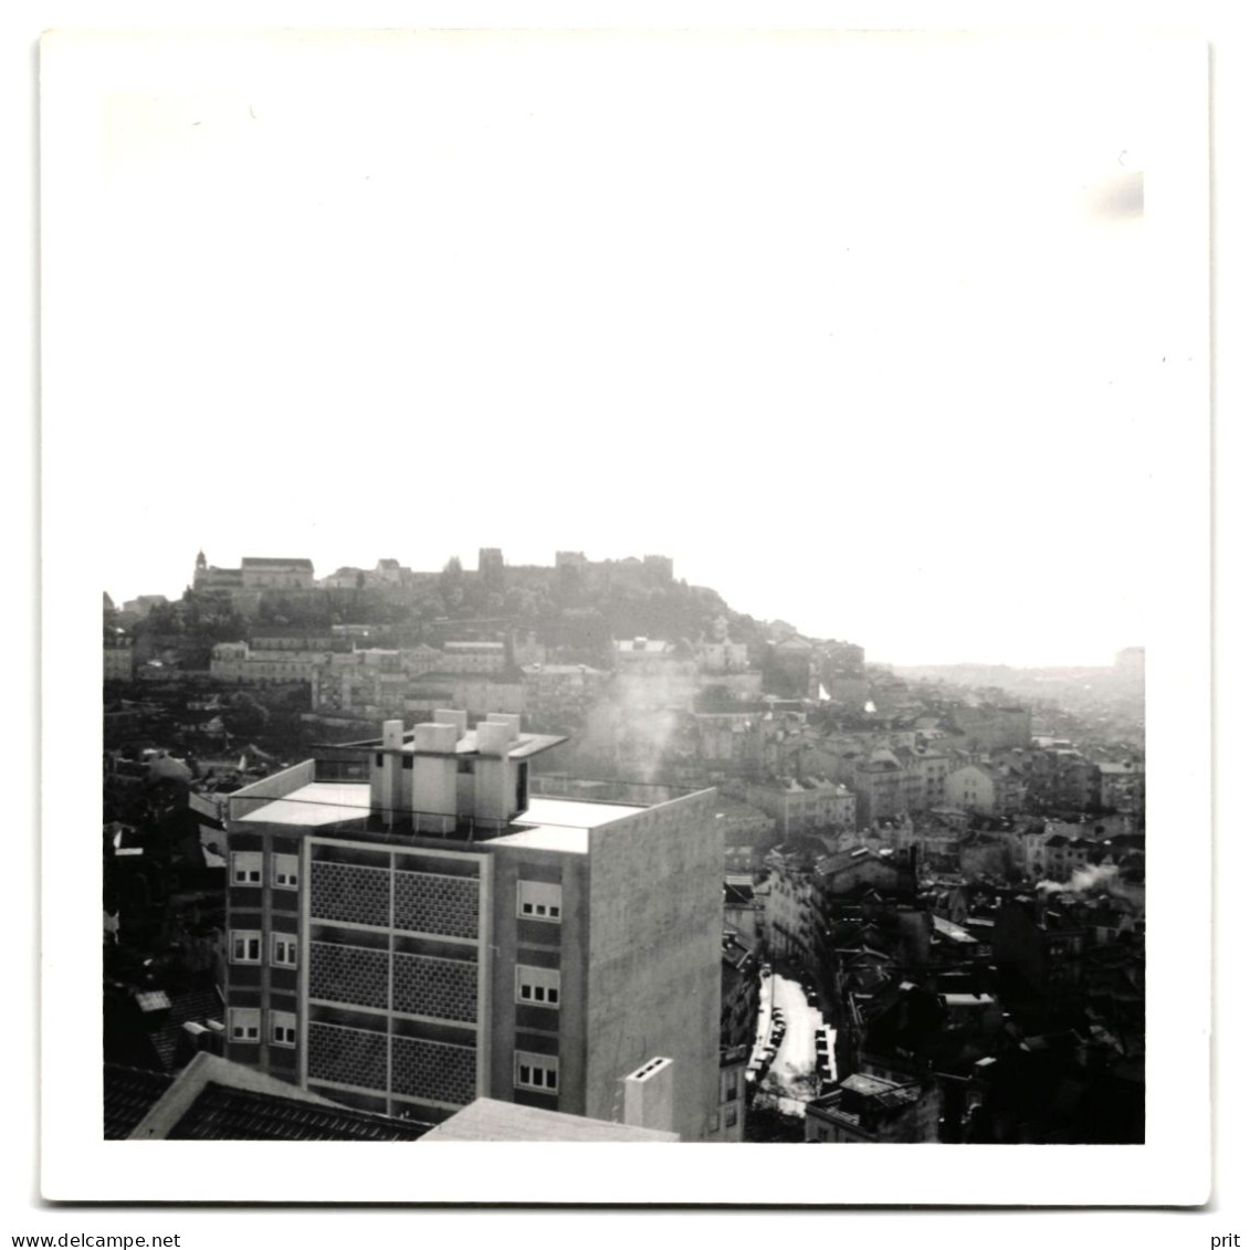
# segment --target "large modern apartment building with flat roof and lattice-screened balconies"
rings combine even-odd
[[[715,791],[542,798],[564,739],[464,712],[230,796],[226,1058],[440,1121],[476,1098],[722,1139]]]

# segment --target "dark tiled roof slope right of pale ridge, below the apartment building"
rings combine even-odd
[[[210,1081],[169,1132],[175,1141],[416,1141],[428,1124],[230,1089]]]

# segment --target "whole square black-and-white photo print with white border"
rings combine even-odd
[[[46,1198],[1206,1200],[1201,39],[39,55]]]

